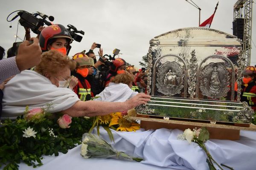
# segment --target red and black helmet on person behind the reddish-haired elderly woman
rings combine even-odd
[[[42,51],[47,51],[47,42],[52,38],[66,38],[67,47],[72,42],[72,37],[67,29],[61,24],[54,24],[44,28],[39,37],[39,45]]]

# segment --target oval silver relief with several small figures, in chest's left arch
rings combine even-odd
[[[167,61],[160,65],[157,72],[157,91],[173,96],[180,94],[183,86],[184,71],[181,65],[175,61]]]

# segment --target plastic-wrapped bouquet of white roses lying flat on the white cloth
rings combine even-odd
[[[128,156],[124,152],[114,150],[105,140],[92,133],[84,133],[81,145],[81,156],[84,158],[115,158],[122,160],[142,161],[141,158]]]

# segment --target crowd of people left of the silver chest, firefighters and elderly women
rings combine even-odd
[[[73,39],[61,24],[41,27],[38,38],[30,38],[29,28],[25,30],[26,41],[10,48],[7,59],[2,59],[5,50],[0,48],[1,118],[15,119],[26,106],[49,104],[50,113],[97,116],[124,112],[150,100],[145,72],[121,58],[108,61],[102,48],[97,60],[95,42],[87,53],[71,59],[67,51]]]

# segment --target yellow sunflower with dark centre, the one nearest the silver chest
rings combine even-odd
[[[113,114],[113,118],[109,124],[109,127],[113,125],[118,125],[119,127],[116,131],[136,131],[140,129],[140,124],[136,123],[134,120],[129,119],[128,116],[122,116],[121,112],[116,112]]]

